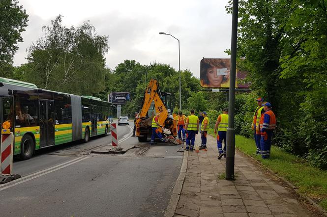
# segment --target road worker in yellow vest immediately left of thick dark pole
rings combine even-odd
[[[217,134],[218,128],[218,134]],[[217,134],[218,160],[223,156],[226,158],[226,135],[228,128],[228,108],[223,109],[223,114],[220,114],[214,125],[214,134]],[[224,140],[224,148],[222,146]]]

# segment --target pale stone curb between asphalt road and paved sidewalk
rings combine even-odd
[[[181,189],[183,188],[183,183],[186,175],[187,160],[188,160],[188,151],[184,151],[183,163],[181,164],[180,173],[177,178],[176,184],[174,186],[168,206],[165,210],[164,217],[173,217],[175,215],[180,192]]]

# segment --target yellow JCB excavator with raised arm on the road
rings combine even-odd
[[[142,101],[142,107],[136,117],[136,136],[140,142],[146,142],[152,134],[152,119],[156,113],[160,113],[159,123],[163,129],[159,129],[163,136],[169,142],[178,144],[180,141],[176,139],[177,128],[176,122],[171,115],[172,108],[170,102],[170,93],[161,92],[159,82],[151,79],[148,87],[145,89]]]

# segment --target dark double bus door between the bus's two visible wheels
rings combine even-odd
[[[54,101],[40,100],[40,147],[55,144]]]

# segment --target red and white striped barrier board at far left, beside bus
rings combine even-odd
[[[13,156],[14,135],[2,134],[0,147],[0,173],[11,175],[12,173],[12,156]]]

